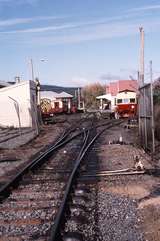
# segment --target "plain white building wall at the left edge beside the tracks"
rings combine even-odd
[[[0,89],[0,126],[38,129],[36,85],[33,81]]]

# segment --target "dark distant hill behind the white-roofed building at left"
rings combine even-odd
[[[62,87],[62,86],[57,86],[57,85],[41,85],[41,90],[42,91],[55,91],[57,93],[60,93],[62,91],[67,92],[68,94],[71,94],[75,96],[75,90],[78,88],[76,87]]]

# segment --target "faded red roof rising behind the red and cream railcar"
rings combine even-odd
[[[137,80],[118,80],[111,82],[106,86],[106,93],[116,96],[119,91],[131,90],[137,92],[138,82]]]

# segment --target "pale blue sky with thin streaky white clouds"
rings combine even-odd
[[[0,0],[0,80],[84,86],[137,78],[140,33],[160,76],[158,0]]]

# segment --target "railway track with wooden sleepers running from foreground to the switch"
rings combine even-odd
[[[89,167],[86,156],[114,124],[103,123],[106,127],[98,133],[92,125],[77,134],[72,128],[0,189],[0,240],[83,240],[80,233],[69,231],[68,223],[83,221],[84,203],[95,190],[94,182],[86,186],[81,181]]]

